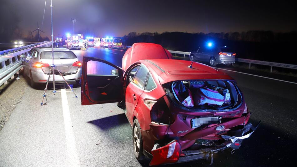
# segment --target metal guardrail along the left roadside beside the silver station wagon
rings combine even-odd
[[[33,48],[33,47],[41,47],[41,46],[49,46],[51,45],[52,42],[42,42],[42,43],[34,43],[31,45],[19,47],[19,48],[14,48],[14,49],[8,49],[1,51],[0,55],[0,63],[1,63],[1,68],[0,68],[0,86],[2,84],[7,84],[7,80],[9,78],[14,78],[14,74],[18,73],[18,71],[23,67],[22,65],[22,60],[23,58],[21,57],[22,54],[27,54],[28,51]],[[30,46],[30,47],[28,47]],[[20,48],[23,48],[20,50]],[[3,55],[2,55],[3,53]]]

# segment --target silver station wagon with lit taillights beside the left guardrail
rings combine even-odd
[[[82,63],[76,55],[66,48],[54,48],[55,83],[65,83],[58,69],[68,84],[79,84],[82,75]],[[51,47],[32,48],[23,61],[24,76],[30,78],[30,84],[35,87],[37,83],[46,83],[50,74],[52,60]],[[53,74],[53,72],[51,73]],[[53,82],[53,75],[49,82]]]

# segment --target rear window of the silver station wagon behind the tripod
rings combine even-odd
[[[52,59],[52,51],[44,51],[40,54],[41,59]],[[77,58],[71,51],[54,51],[54,59],[71,59]]]

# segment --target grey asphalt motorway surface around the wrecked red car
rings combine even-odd
[[[98,47],[73,52],[79,60],[98,57],[120,67],[125,53]],[[212,166],[296,166],[297,84],[224,72],[237,80],[252,112],[250,122],[262,123],[234,154],[215,154]],[[23,99],[0,131],[0,166],[148,166],[149,160],[140,163],[134,157],[131,127],[116,104],[81,106],[80,88],[74,88],[74,98],[62,85],[62,92],[48,95],[47,105],[40,106],[42,87],[33,89],[18,81],[10,87],[24,87]],[[209,164],[197,160],[165,166]]]

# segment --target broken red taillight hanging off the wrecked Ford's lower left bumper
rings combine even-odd
[[[169,144],[157,149],[154,147],[152,150],[153,159],[149,165],[177,162],[179,160],[180,152],[181,146],[177,140],[173,140]]]

